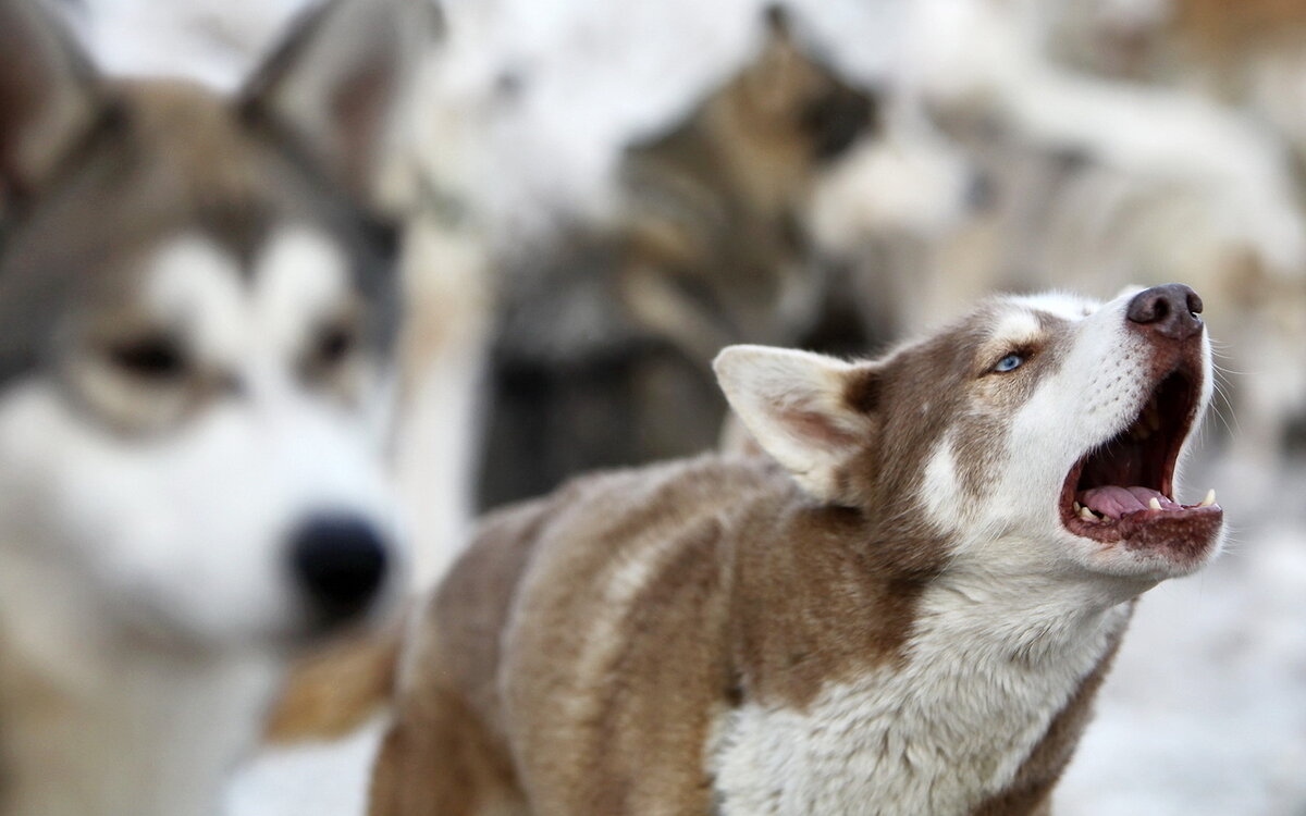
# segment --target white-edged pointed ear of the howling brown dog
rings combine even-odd
[[[871,363],[820,354],[730,346],[712,363],[730,407],[763,450],[814,497],[852,504],[849,462],[875,431]]]

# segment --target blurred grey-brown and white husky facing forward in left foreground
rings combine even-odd
[[[0,813],[199,816],[287,653],[407,560],[371,193],[419,0],[337,0],[234,99],[0,0]]]

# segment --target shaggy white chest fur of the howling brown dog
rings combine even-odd
[[[949,816],[1000,791],[1127,611],[1066,620],[1057,642],[1016,619],[1043,633],[1023,644],[995,640],[993,618],[966,606],[927,594],[905,666],[829,684],[802,710],[725,715],[708,752],[720,816]]]

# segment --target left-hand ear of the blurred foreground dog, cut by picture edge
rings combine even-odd
[[[0,0],[0,202],[29,196],[98,110],[99,82],[35,0]]]

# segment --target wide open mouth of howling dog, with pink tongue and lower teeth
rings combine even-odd
[[[1198,546],[1224,510],[1209,491],[1198,504],[1174,495],[1174,465],[1198,414],[1199,380],[1179,368],[1161,379],[1138,416],[1071,467],[1060,495],[1071,533],[1136,547]]]

